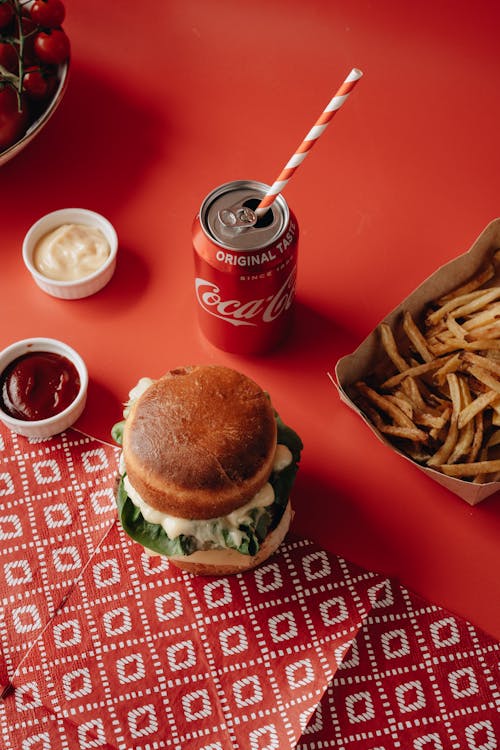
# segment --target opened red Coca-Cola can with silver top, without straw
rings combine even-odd
[[[205,198],[193,224],[199,324],[228,352],[267,352],[291,326],[299,227],[282,195],[257,216],[268,190],[253,180],[225,183]]]

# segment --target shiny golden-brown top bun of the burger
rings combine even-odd
[[[123,459],[130,483],[152,508],[216,518],[265,484],[276,432],[270,400],[253,380],[228,367],[185,367],[155,381],[132,405]]]

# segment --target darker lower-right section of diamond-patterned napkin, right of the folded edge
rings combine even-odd
[[[390,586],[393,601],[365,619],[298,750],[498,750],[500,644]]]

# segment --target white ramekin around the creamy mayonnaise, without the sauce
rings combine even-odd
[[[33,264],[33,253],[37,242],[61,224],[85,224],[101,230],[109,243],[110,254],[97,271],[73,281],[49,279],[37,271]],[[86,208],[61,208],[42,216],[28,230],[23,242],[23,260],[35,283],[47,294],[61,299],[81,299],[102,289],[115,272],[117,252],[118,237],[113,225],[101,214]]]

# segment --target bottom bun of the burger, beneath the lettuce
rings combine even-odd
[[[259,547],[259,551],[253,557],[242,555],[241,552],[234,549],[208,549],[193,552],[192,555],[167,557],[167,560],[177,568],[198,576],[225,576],[244,573],[246,570],[262,565],[276,552],[288,532],[292,518],[292,506],[288,501],[278,526],[266,536]],[[148,549],[145,548],[145,551],[151,555]]]

